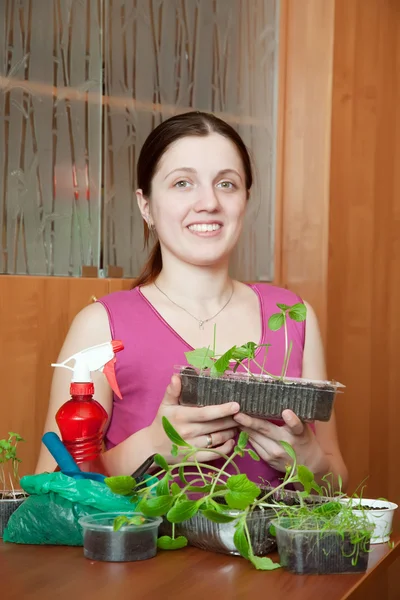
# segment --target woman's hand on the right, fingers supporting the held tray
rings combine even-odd
[[[274,425],[270,421],[249,417],[243,413],[234,416],[242,431],[249,434],[249,440],[259,457],[278,471],[285,472],[291,459],[279,443],[288,442],[296,452],[297,464],[305,465],[314,475],[325,475],[330,471],[328,457],[319,445],[311,427],[303,423],[293,411],[284,410],[285,425]]]

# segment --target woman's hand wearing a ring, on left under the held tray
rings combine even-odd
[[[181,406],[180,393],[180,377],[173,375],[156,418],[147,428],[154,452],[162,454],[170,464],[180,460],[179,457],[171,455],[172,442],[162,426],[162,417],[166,417],[185,441],[198,448],[204,448],[204,452],[197,454],[199,462],[209,462],[219,458],[218,454],[207,449],[210,436],[215,450],[230,454],[235,446],[234,437],[237,433],[237,423],[233,417],[240,410],[239,404],[229,402],[215,406]]]

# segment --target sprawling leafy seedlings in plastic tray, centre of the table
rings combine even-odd
[[[282,474],[279,486],[262,489],[240,473],[235,463],[235,458],[245,453],[259,460],[254,450],[247,448],[247,433],[241,432],[230,456],[210,449],[224,459],[217,468],[199,463],[196,457],[202,449],[182,439],[165,417],[162,421],[173,444],[172,454],[182,454],[179,462],[169,465],[163,456],[156,455],[154,462],[159,470],[154,473],[154,482],[147,482],[146,487],[132,477],[110,477],[106,484],[115,493],[131,496],[144,516],[165,518],[170,532],[159,538],[161,549],[183,548],[190,542],[206,550],[240,554],[257,569],[278,568],[277,563],[264,556],[275,546],[269,532],[271,520],[282,508],[286,486],[301,484],[307,497],[313,490],[319,491],[313,474],[294,463]],[[291,446],[281,443],[293,456]],[[228,465],[233,466],[234,474],[226,471]],[[116,529],[119,525],[120,521],[115,521]]]

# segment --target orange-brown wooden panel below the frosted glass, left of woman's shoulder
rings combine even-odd
[[[0,437],[16,431],[26,439],[20,446],[21,474],[33,472],[36,465],[50,365],[69,325],[93,295],[103,296],[110,288],[105,279],[0,277]]]

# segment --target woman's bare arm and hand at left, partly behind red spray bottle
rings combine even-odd
[[[62,362],[69,356],[85,348],[110,340],[111,332],[105,308],[99,303],[87,306],[75,317],[57,362]],[[105,408],[109,421],[113,404],[112,390],[102,373],[93,373],[92,376],[95,387],[94,397]],[[55,369],[44,427],[45,432],[55,431],[59,433],[55,415],[60,406],[70,398],[70,382],[71,371]],[[215,450],[225,454],[232,451],[235,445],[234,437],[236,434],[236,424],[233,420],[233,415],[238,412],[239,405],[231,402],[194,410],[191,407],[179,405],[180,391],[180,379],[174,376],[167,387],[164,398],[160,398],[160,408],[153,423],[133,433],[126,440],[115,446],[115,448],[102,454],[101,460],[105,474],[130,475],[149,456],[157,452],[163,454],[170,462],[178,460],[170,456],[172,444],[163,430],[163,415],[193,445],[205,448],[209,434],[212,434]],[[198,455],[198,459],[202,462],[215,460],[216,458],[217,455],[209,450],[200,452]],[[56,463],[54,459],[42,444],[35,472],[51,472],[55,468]]]

